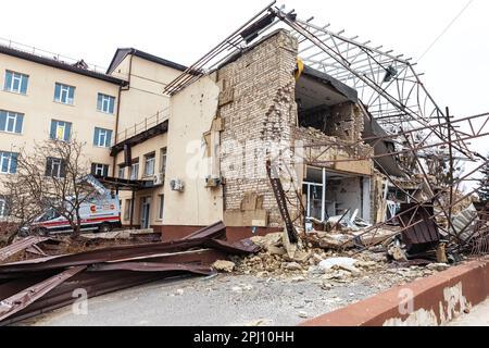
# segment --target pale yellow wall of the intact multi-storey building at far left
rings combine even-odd
[[[27,95],[3,90],[5,70],[29,76]],[[54,102],[54,84],[63,83],[76,87],[73,105]],[[97,95],[102,92],[115,97],[114,114],[97,110]],[[35,141],[49,139],[51,120],[72,123],[72,136],[87,141],[87,164],[103,163],[112,166],[110,150],[92,145],[95,127],[115,129],[118,86],[101,79],[66,72],[7,54],[0,54],[0,109],[24,114],[22,135],[0,132],[0,150],[30,151]],[[0,174],[0,183],[1,183]]]

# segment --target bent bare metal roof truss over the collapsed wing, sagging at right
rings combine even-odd
[[[443,215],[448,221],[448,227],[440,228],[455,240],[460,239],[451,226],[453,207],[460,202],[454,198],[454,190],[461,183],[471,179],[471,175],[477,171],[455,177],[454,160],[478,162],[477,164],[480,165],[477,170],[488,165],[489,161],[482,154],[469,149],[468,140],[489,135],[489,114],[452,120],[449,109],[442,110],[428,92],[421,80],[423,74],[415,71],[416,64],[412,63],[411,59],[404,58],[403,54],[394,54],[391,50],[384,50],[383,46],[371,45],[371,41],[362,41],[358,36],[347,36],[344,30],[335,32],[329,24],[316,24],[314,17],[301,20],[293,10],[287,12],[285,7],[275,4],[276,1],[269,3],[188,67],[166,86],[165,92],[167,95],[179,92],[201,76],[220,69],[235,54],[244,52],[251,42],[264,37],[273,29],[284,27],[298,40],[298,55],[304,64],[354,88],[359,92],[359,105],[367,120],[375,120],[387,133],[387,136],[362,139],[361,142],[368,140],[371,145],[375,145],[378,141],[388,140],[396,145],[396,150],[389,153],[367,157],[360,154],[340,161],[373,160],[379,165],[377,160],[384,156],[397,159],[410,158],[413,171],[423,176],[428,194],[427,200],[419,201],[404,191],[410,201],[416,203],[413,208],[414,213],[411,213],[414,216],[424,204],[435,207],[437,212],[430,219],[436,220]],[[326,152],[330,147],[351,148],[354,145],[315,142],[306,147],[319,147]],[[434,187],[430,183],[429,176],[432,173],[427,173],[426,160],[432,157],[438,157],[448,163],[449,177],[442,186]],[[306,164],[319,166],[328,164],[321,161],[318,157],[309,158],[306,162]],[[330,162],[336,161],[329,161],[329,164]],[[406,172],[406,175],[412,174],[414,173]],[[403,190],[394,179],[389,177],[389,181]],[[471,191],[464,198],[471,197],[477,190]],[[449,197],[448,201],[442,199],[443,195]],[[367,228],[365,233],[375,235],[386,223],[388,222]],[[402,231],[413,228],[416,224],[419,224],[419,221],[403,224]],[[478,239],[484,247],[489,245],[486,229],[481,229],[484,234]],[[460,246],[466,247],[463,243]],[[477,248],[477,245],[473,247]],[[480,246],[478,248],[481,249]]]

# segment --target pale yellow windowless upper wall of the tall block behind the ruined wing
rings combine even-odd
[[[122,62],[122,71],[128,71],[130,67],[130,88],[122,91],[122,103],[118,121],[120,139],[127,135],[134,135],[134,126],[138,125],[141,129],[145,119],[152,117],[159,111],[162,112],[161,117],[167,117],[168,112],[165,110],[170,107],[170,98],[163,95],[166,84],[175,79],[181,74],[180,71],[171,69],[158,63],[150,62],[139,57],[127,55]],[[115,69],[118,72],[118,66]],[[117,76],[117,75],[115,75]],[[155,117],[150,122],[155,122]]]

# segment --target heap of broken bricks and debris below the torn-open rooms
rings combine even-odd
[[[385,233],[392,234],[391,231]],[[235,272],[263,278],[287,278],[290,282],[312,279],[328,290],[336,285],[374,275],[384,284],[408,283],[450,268],[447,263],[409,260],[393,238],[388,238],[386,246],[371,247],[360,252],[351,248],[338,250],[338,245],[350,238],[344,234],[313,232],[297,246],[290,246],[285,236],[285,233],[274,233],[252,237],[261,251],[244,258],[231,257]],[[383,237],[385,239],[386,236]]]

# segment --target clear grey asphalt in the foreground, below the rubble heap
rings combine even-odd
[[[324,290],[312,281],[218,275],[159,282],[97,297],[88,314],[67,307],[21,325],[297,325],[377,294],[389,285],[359,278]]]

